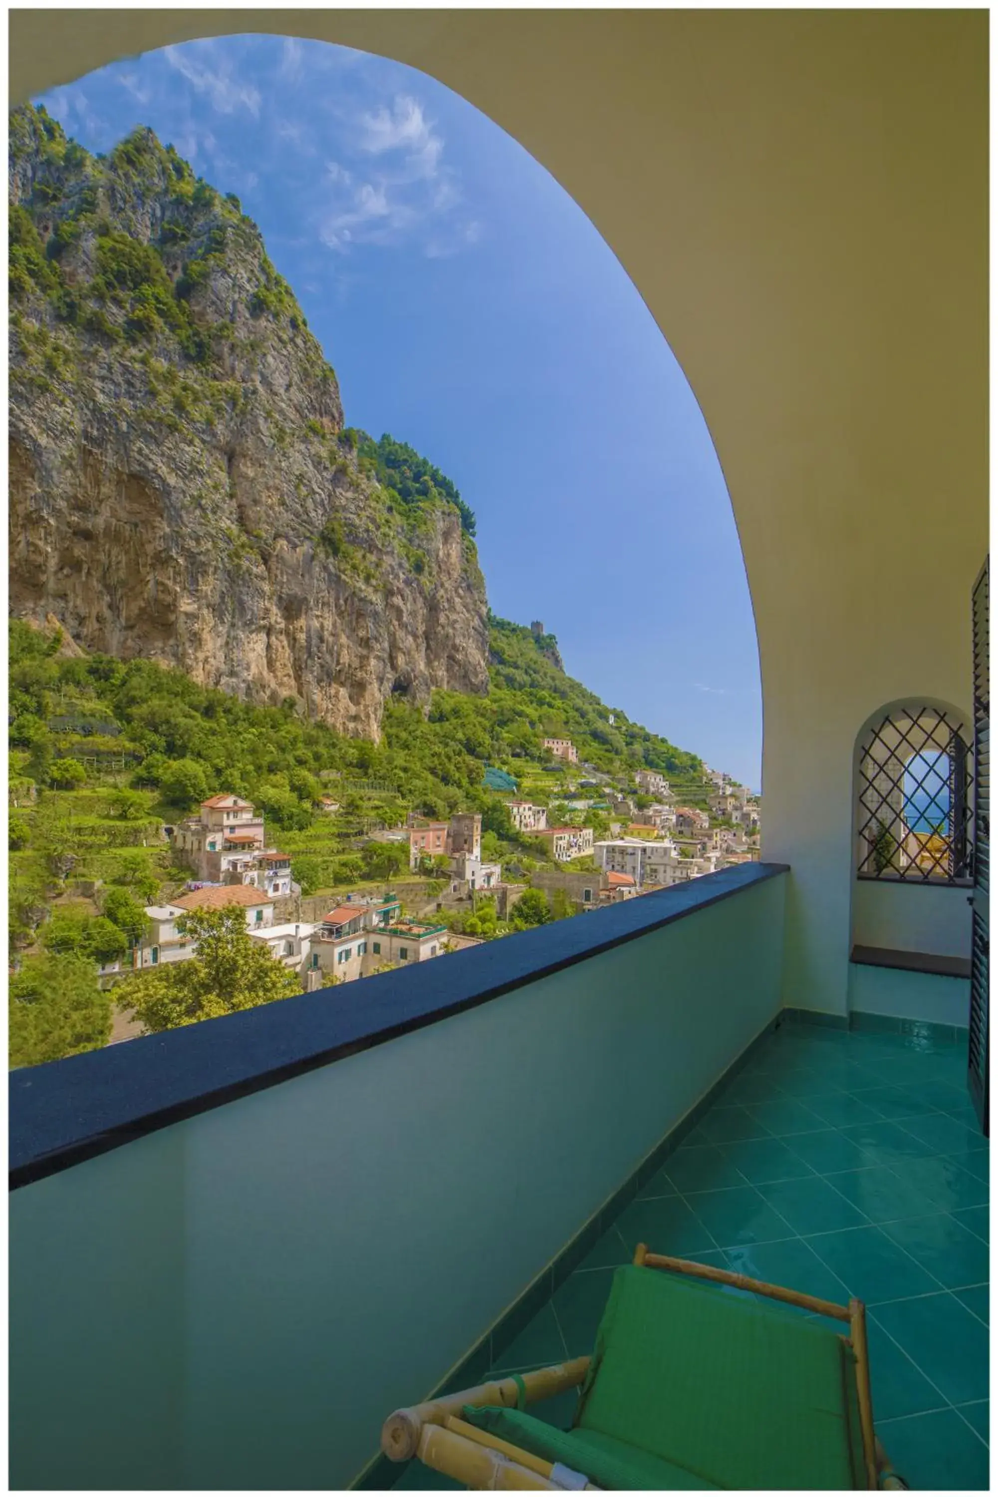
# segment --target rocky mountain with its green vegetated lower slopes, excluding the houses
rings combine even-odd
[[[480,811],[485,859],[528,880],[549,853],[486,769],[599,835],[637,768],[703,793],[700,760],[569,677],[554,635],[488,612],[471,507],[407,443],[344,427],[233,195],[148,129],[91,156],[25,106],[9,210],[13,1064],[108,1042],[106,984],[190,877],[163,828],[212,793],[256,804],[305,895],[408,880],[404,840],[371,832],[410,813]],[[488,939],[548,904],[504,913],[461,919]],[[268,979],[236,1006],[283,996],[238,934],[214,931],[214,964],[199,937],[190,991],[160,973],[157,1024],[232,1004],[226,961]]]

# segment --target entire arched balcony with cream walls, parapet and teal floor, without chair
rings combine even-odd
[[[295,25],[485,109],[669,338],[753,593],[762,858],[13,1072],[10,1484],[419,1488],[391,1410],[591,1350],[640,1240],[865,1299],[893,1464],[986,1488],[986,15]],[[12,100],[203,34],[13,12]]]

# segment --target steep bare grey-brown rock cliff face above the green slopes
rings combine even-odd
[[[256,225],[138,130],[93,157],[10,115],[10,609],[377,738],[488,690],[485,584],[402,500]]]

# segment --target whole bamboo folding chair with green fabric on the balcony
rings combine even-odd
[[[652,1286],[643,1269],[664,1269],[678,1289]],[[724,1287],[848,1329],[780,1314]],[[525,1412],[569,1388],[581,1389],[572,1430]],[[663,1257],[643,1243],[633,1265],[613,1274],[593,1356],[398,1409],[382,1449],[394,1461],[417,1457],[471,1490],[907,1485],[874,1434],[860,1299],[836,1305]]]

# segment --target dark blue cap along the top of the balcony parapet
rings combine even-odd
[[[10,1187],[437,1024],[696,915],[786,864],[742,864],[435,961],[10,1072]],[[361,998],[362,994],[362,998]]]

